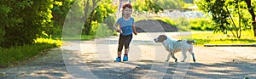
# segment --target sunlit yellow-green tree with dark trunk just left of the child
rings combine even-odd
[[[87,0],[87,3],[90,4],[88,1],[90,0]],[[85,5],[87,5],[87,3]],[[84,32],[86,35],[94,34],[94,32],[90,32],[92,31],[93,23],[98,25],[98,23],[102,23],[103,20],[108,18],[110,14],[117,11],[116,6],[113,6],[111,0],[96,0],[91,3],[91,7],[88,5],[84,6]]]

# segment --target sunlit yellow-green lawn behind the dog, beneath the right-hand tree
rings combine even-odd
[[[180,37],[181,39],[191,39],[191,37]],[[195,45],[203,46],[204,44],[256,44],[256,37],[253,37],[253,31],[242,31],[241,38],[233,37],[231,32],[224,35],[223,33],[213,33],[213,31],[192,31],[192,39]]]

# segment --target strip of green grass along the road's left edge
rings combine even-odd
[[[38,54],[44,54],[49,51],[50,48],[60,46],[60,40],[38,38],[30,45],[0,48],[0,68],[19,65],[20,62],[26,59],[30,59]]]

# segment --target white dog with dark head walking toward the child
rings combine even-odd
[[[187,58],[187,51],[192,55],[193,61],[195,62],[195,54],[193,53],[193,45],[192,42],[195,41],[189,41],[189,40],[178,40],[174,41],[169,37],[166,37],[166,35],[160,35],[159,37],[154,39],[154,42],[162,42],[164,47],[168,52],[170,52],[167,56],[166,62],[169,61],[170,57],[172,56],[172,59],[175,59],[175,62],[177,62],[177,58],[174,56],[177,52],[183,53],[183,60],[181,62],[184,62]]]

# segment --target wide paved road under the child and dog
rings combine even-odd
[[[129,62],[116,63],[118,37],[98,38],[94,41],[66,42],[37,59],[14,68],[1,70],[2,79],[176,79],[176,78],[256,78],[256,48],[195,46],[196,63],[188,54],[181,63],[163,62],[167,52],[154,37],[163,33],[139,33],[131,42]],[[173,39],[189,37],[189,33],[166,33]],[[62,53],[62,54],[61,54]]]

